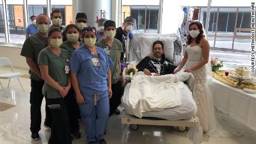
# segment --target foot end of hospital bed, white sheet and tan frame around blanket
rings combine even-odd
[[[162,111],[144,112],[142,118],[137,118],[131,111],[129,105],[129,90],[131,83],[125,86],[124,96],[122,97],[122,123],[130,124],[132,130],[137,130],[137,125],[159,125],[159,126],[180,126],[194,127],[198,120],[195,116],[197,107],[188,86],[184,84],[181,90],[181,106],[167,108]],[[178,129],[180,130],[180,129]],[[182,130],[181,130],[182,131]]]

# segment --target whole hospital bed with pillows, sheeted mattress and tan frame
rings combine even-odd
[[[182,53],[182,44],[178,34],[135,33],[134,37],[130,39],[129,54],[126,55],[128,61],[139,63],[145,56],[152,54],[152,43],[156,40],[163,41],[166,58],[175,64],[179,64],[181,57],[175,57],[175,55],[181,55]],[[183,90],[181,90],[181,106],[162,111],[144,112],[142,118],[135,117],[129,106],[130,85],[128,83],[124,88],[122,97],[124,112],[122,113],[121,122],[129,124],[132,130],[137,130],[138,125],[178,127],[196,127],[199,125],[199,119],[196,117],[197,107],[187,85],[183,84]]]

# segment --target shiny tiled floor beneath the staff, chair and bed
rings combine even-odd
[[[7,68],[1,68],[0,73],[7,71]],[[27,75],[27,71],[19,72]],[[40,137],[41,140],[32,141],[31,132],[29,130],[30,125],[30,114],[29,114],[29,91],[30,81],[28,78],[21,78],[22,85],[24,86],[25,92],[22,88],[17,86],[8,90],[8,97],[4,96],[3,91],[0,91],[0,102],[9,103],[15,105],[6,111],[0,111],[0,143],[1,144],[27,144],[27,143],[47,143],[50,136],[50,130],[47,130],[43,125],[41,126]],[[8,81],[3,81],[4,86],[7,86]],[[17,80],[12,80],[11,85],[17,85]],[[42,121],[45,117],[45,101],[42,104]],[[120,115],[114,115],[110,118],[109,125],[107,126],[107,134],[105,139],[107,143],[175,143],[175,144],[191,144],[189,139],[186,137],[186,132],[178,132],[174,127],[167,126],[144,126],[140,125],[137,131],[133,131],[128,125],[122,125],[120,121]],[[86,143],[85,132],[82,125],[80,126],[82,138],[73,140],[72,143]],[[225,144],[255,144],[255,139],[250,137],[232,137],[232,138],[209,138],[203,136],[202,144],[209,143],[225,143]]]

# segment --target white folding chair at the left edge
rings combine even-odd
[[[21,81],[20,81],[19,78],[18,78],[18,77],[21,76],[22,74],[15,71],[15,69],[14,69],[13,66],[12,66],[11,61],[9,60],[9,58],[7,58],[7,57],[2,57],[2,58],[0,58],[0,67],[2,67],[2,66],[11,66],[11,68],[12,68],[12,69],[11,69],[11,72],[0,73],[0,79],[9,79],[7,88],[10,88],[9,85],[10,85],[11,79],[12,79],[12,78],[17,78],[18,81],[19,81],[19,85],[21,85],[22,90],[24,91],[24,88],[23,88],[23,86],[22,86],[22,84],[21,84]],[[4,91],[4,94],[6,95],[6,97],[8,97],[8,96],[7,96],[7,93],[6,93],[6,91],[5,91],[5,89],[7,89],[7,88],[4,88],[4,87],[3,87],[1,81],[0,81],[0,85],[1,85],[1,87],[2,87],[2,90]],[[16,86],[18,86],[18,85],[16,85]],[[13,87],[14,87],[14,86],[13,86]],[[2,91],[2,90],[1,90],[1,91]]]

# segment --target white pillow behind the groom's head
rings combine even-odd
[[[141,58],[150,56],[153,52],[153,43],[155,41],[162,41],[164,43],[165,57],[173,61],[174,41],[176,37],[138,37]]]

